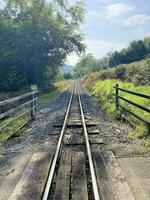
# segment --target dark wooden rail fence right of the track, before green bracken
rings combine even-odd
[[[130,105],[133,105],[141,110],[144,110],[148,113],[150,113],[150,108],[146,108],[142,105],[139,105],[131,100],[128,100],[122,96],[119,95],[119,91],[122,91],[122,92],[125,92],[125,93],[129,93],[129,94],[132,94],[132,95],[135,95],[135,96],[138,96],[138,97],[142,97],[142,98],[145,98],[145,99],[150,99],[150,96],[149,95],[145,95],[145,94],[140,94],[140,93],[137,93],[137,92],[133,92],[133,91],[129,91],[129,90],[125,90],[123,88],[119,88],[119,85],[116,84],[116,86],[113,87],[115,89],[115,104],[116,104],[116,109],[119,110],[119,108],[122,108],[123,110],[125,110],[126,112],[130,113],[131,115],[133,115],[134,117],[136,117],[137,119],[141,120],[142,122],[144,122],[145,124],[147,124],[148,126],[150,126],[150,121],[146,121],[145,119],[143,119],[141,116],[138,116],[137,114],[133,113],[132,111],[128,110],[127,108],[123,107],[121,104],[120,104],[120,100],[123,100],[125,102],[127,102],[128,104]]]

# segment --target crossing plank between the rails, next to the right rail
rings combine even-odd
[[[74,152],[72,173],[72,199],[88,200],[84,152]]]

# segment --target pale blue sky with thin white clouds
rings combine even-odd
[[[75,0],[69,0],[74,3]],[[87,53],[102,58],[110,50],[127,47],[132,40],[150,36],[150,0],[84,0],[85,23],[81,25]],[[67,64],[79,57],[71,54]]]

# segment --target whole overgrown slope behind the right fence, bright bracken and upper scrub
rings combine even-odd
[[[133,137],[149,138],[150,127],[146,124],[128,114],[124,110],[117,112],[114,101],[113,86],[119,84],[121,88],[126,90],[150,94],[150,58],[145,58],[138,62],[130,64],[118,65],[115,68],[103,70],[100,72],[94,72],[86,75],[83,79],[83,85],[86,89],[98,99],[101,108],[114,119],[122,119],[122,116],[127,119],[134,129],[130,133]],[[150,107],[150,101],[141,97],[133,96],[131,94],[121,93],[124,98],[131,100],[146,108]],[[136,108],[124,101],[121,101],[121,105],[126,107],[129,111],[141,116],[146,121],[149,121],[149,113]],[[148,139],[149,141],[149,139]],[[144,142],[145,143],[145,142]],[[150,142],[148,142],[150,145]]]

